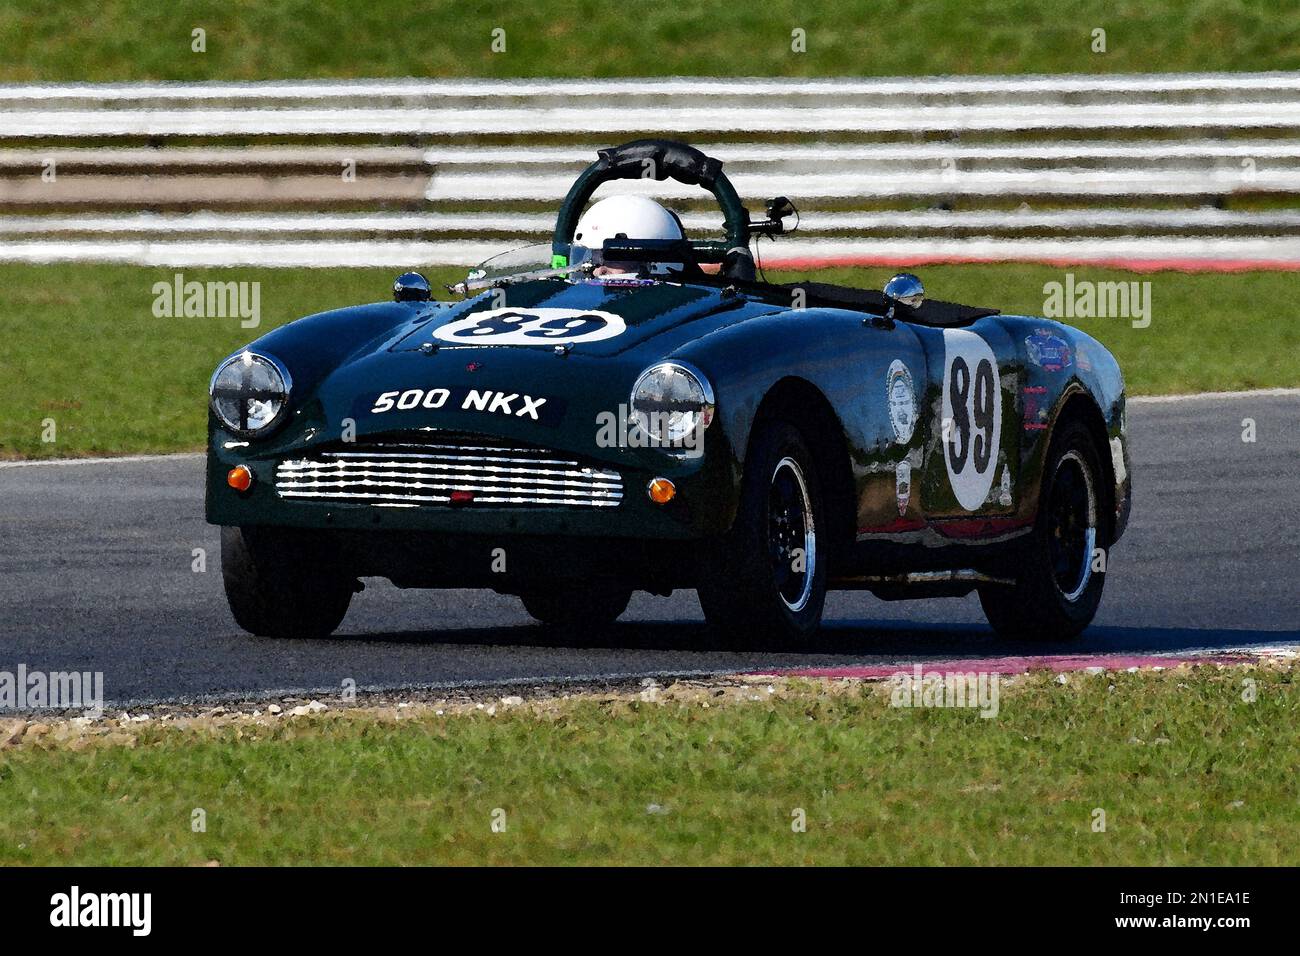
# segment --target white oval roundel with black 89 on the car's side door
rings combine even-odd
[[[966,329],[944,329],[942,442],[957,503],[978,511],[993,486],[1002,434],[997,356]]]

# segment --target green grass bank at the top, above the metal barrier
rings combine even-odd
[[[1282,70],[1294,0],[9,0],[0,81]],[[207,31],[207,52],[191,33]],[[491,31],[506,31],[493,52]],[[792,31],[806,52],[792,52]],[[1092,31],[1106,52],[1092,52]]]

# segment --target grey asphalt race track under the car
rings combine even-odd
[[[996,639],[975,598],[832,594],[815,644],[733,653],[693,592],[637,594],[595,648],[555,646],[490,592],[368,581],[341,632],[240,632],[203,520],[195,455],[0,467],[0,670],[103,671],[110,705],[359,688],[541,684],[852,669],[1058,653],[1258,650],[1300,644],[1300,395],[1130,406],[1135,505],[1097,620],[1069,645]],[[1243,419],[1257,441],[1243,442]],[[191,570],[192,549],[208,555]]]

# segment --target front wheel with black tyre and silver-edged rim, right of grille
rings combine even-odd
[[[699,605],[733,646],[806,640],[826,604],[824,514],[816,463],[798,428],[757,425],[731,532],[701,567]]]

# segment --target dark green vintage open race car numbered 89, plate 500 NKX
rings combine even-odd
[[[711,191],[725,237],[575,242],[598,186],[646,176]],[[978,591],[1002,635],[1079,633],[1130,510],[1115,359],[910,274],[758,281],[751,241],[790,211],[754,221],[718,160],[628,143],[575,182],[542,268],[456,302],[407,273],[228,358],[207,516],[235,620],[328,635],[378,576],[516,594],[564,635],[677,588],[742,644],[809,635],[832,588]]]

